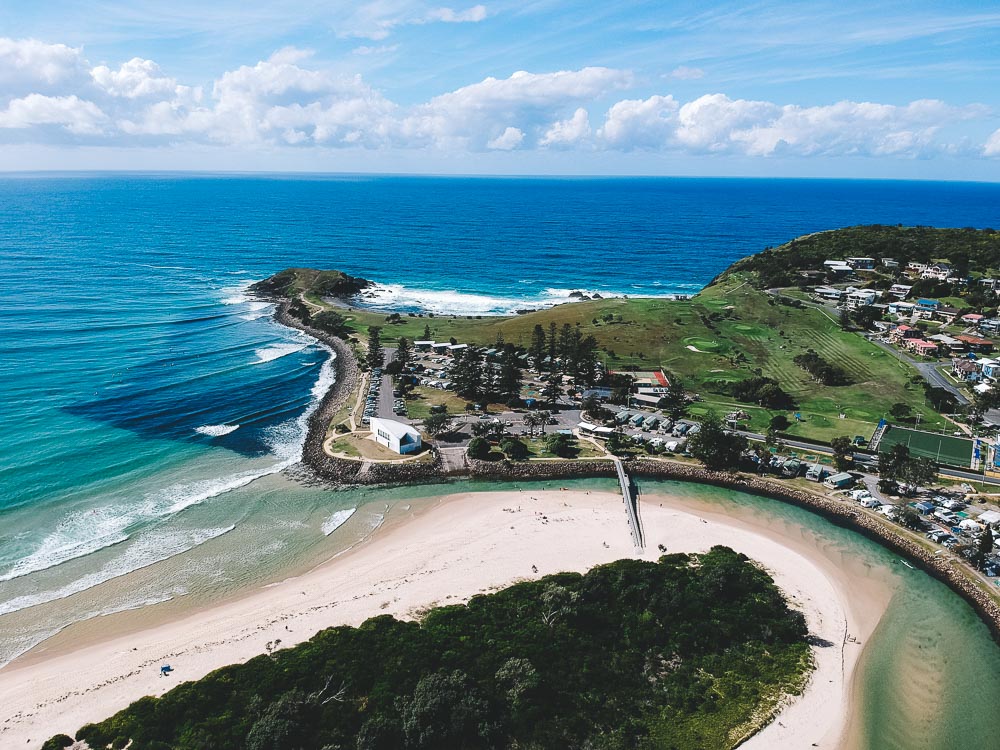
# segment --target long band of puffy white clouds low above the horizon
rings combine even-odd
[[[355,52],[392,49],[360,47]],[[0,81],[13,81],[6,86],[6,98],[0,88],[0,129],[8,139],[16,131],[18,142],[92,143],[100,138],[116,146],[429,147],[453,153],[540,148],[893,158],[970,155],[975,150],[980,156],[1000,156],[1000,131],[974,135],[992,117],[980,105],[917,100],[801,106],[721,93],[687,102],[667,94],[615,102],[609,97],[630,87],[632,74],[588,67],[490,77],[402,107],[361,76],[326,69],[312,56],[309,50],[286,47],[254,65],[224,72],[202,92],[179,83],[152,60],[136,57],[117,67],[91,68],[78,49],[0,39],[0,61],[7,63],[0,68]],[[27,91],[19,89],[28,85]],[[614,103],[599,127],[592,127],[588,109],[607,101]],[[969,121],[973,124],[963,125]],[[993,122],[989,130],[995,127]]]

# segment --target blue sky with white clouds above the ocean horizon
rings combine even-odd
[[[1000,179],[1000,6],[0,6],[0,169]]]

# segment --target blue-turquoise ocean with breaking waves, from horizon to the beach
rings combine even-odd
[[[1000,227],[1000,185],[0,178],[0,665],[71,622],[287,574],[425,492],[283,472],[333,370],[252,281],[338,268],[379,282],[375,307],[496,314],[693,293],[766,246],[863,223]]]

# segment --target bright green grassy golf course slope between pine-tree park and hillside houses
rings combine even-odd
[[[602,299],[567,303],[512,317],[409,317],[387,324],[384,314],[341,310],[358,337],[367,327],[383,327],[383,340],[399,336],[419,339],[424,327],[436,340],[455,339],[470,344],[493,344],[498,335],[528,346],[536,324],[579,324],[593,335],[613,370],[663,367],[676,373],[688,390],[719,411],[743,408],[756,430],[767,427],[778,412],[738,404],[726,385],[756,374],[774,378],[798,404],[801,421],[790,434],[817,440],[839,435],[871,435],[896,402],[921,415],[921,424],[945,429],[947,422],[924,403],[923,381],[909,365],[861,336],[842,331],[827,311],[777,304],[747,283],[744,274],[729,274],[691,300]],[[610,317],[610,321],[605,321]],[[689,349],[688,347],[693,347]],[[814,349],[843,368],[851,377],[847,386],[830,387],[813,381],[795,365],[796,355]],[[695,351],[697,350],[697,351]],[[843,415],[843,416],[841,416]],[[416,416],[412,415],[411,416]]]

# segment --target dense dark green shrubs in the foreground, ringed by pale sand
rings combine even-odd
[[[801,684],[805,637],[767,574],[715,547],[324,630],[77,736],[132,750],[724,748]]]

